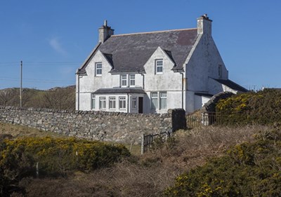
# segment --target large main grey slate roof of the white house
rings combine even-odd
[[[158,46],[174,61],[174,69],[182,69],[196,39],[197,29],[121,34],[110,36],[97,50],[107,54],[105,56],[114,68],[111,72],[143,71],[144,64]],[[96,53],[96,50],[93,53]],[[91,57],[93,54],[89,56]],[[79,72],[84,72],[87,62]]]

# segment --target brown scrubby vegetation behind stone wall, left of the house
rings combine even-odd
[[[19,107],[19,95],[19,88],[0,90],[0,105]],[[24,88],[22,90],[22,107],[74,110],[75,86],[50,90]]]

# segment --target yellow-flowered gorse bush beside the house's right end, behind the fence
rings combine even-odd
[[[273,89],[233,95],[226,100],[220,100],[216,111],[222,115],[221,123],[224,124],[279,125],[281,91]]]

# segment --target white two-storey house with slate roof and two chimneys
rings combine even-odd
[[[202,15],[197,28],[114,35],[105,21],[76,73],[76,109],[192,112],[216,93],[247,91],[228,79],[211,22]]]

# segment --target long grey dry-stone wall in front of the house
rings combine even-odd
[[[143,133],[160,133],[185,128],[183,109],[168,114],[126,114],[105,111],[67,111],[1,107],[0,121],[27,125],[67,136],[139,144]],[[177,117],[177,118],[172,118]],[[173,123],[173,120],[174,123]]]

